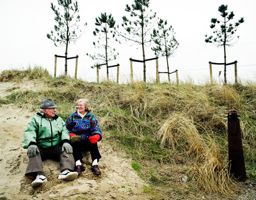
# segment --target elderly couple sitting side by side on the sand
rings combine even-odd
[[[60,162],[58,179],[75,180],[84,171],[81,164],[83,150],[89,150],[92,157],[92,172],[100,175],[98,167],[101,155],[97,141],[102,139],[99,121],[90,112],[87,99],[77,101],[77,111],[64,122],[56,115],[52,99],[41,101],[40,113],[36,113],[24,132],[24,148],[28,148],[28,167],[25,175],[33,179],[32,187],[47,182],[42,161],[55,159]]]

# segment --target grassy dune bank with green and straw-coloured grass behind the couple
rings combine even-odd
[[[132,167],[160,191],[156,192],[159,198],[173,192],[178,197],[193,196],[198,191],[236,195],[239,183],[228,173],[226,117],[228,110],[236,109],[241,112],[246,173],[256,182],[255,83],[88,83],[64,76],[52,78],[38,67],[0,75],[1,82],[24,79],[46,87],[38,91],[13,88],[0,104],[27,104],[36,111],[42,99],[51,97],[58,104],[58,115],[65,119],[77,99],[89,99],[105,139],[133,157]],[[180,181],[185,175],[187,183]]]

